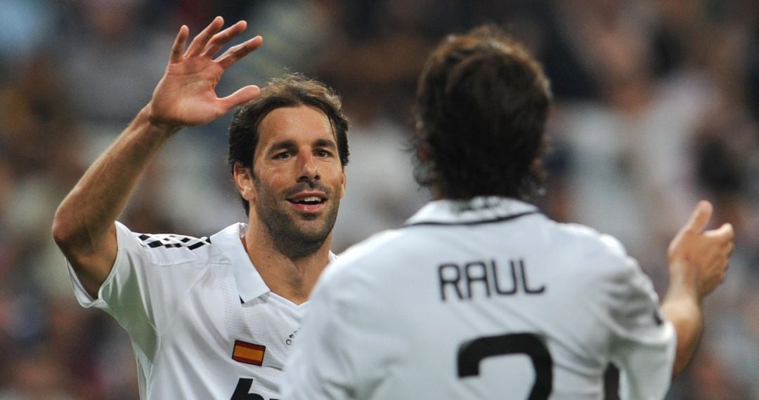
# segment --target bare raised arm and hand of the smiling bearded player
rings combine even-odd
[[[181,27],[150,103],[87,169],[55,213],[55,242],[93,297],[116,258],[115,220],[156,152],[182,127],[215,120],[260,92],[257,86],[245,86],[227,97],[216,96],[222,73],[262,43],[257,36],[214,59],[246,28],[244,21],[225,30],[223,25],[224,20],[216,17],[186,51],[189,30]]]

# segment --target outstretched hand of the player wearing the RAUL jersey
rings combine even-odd
[[[691,286],[698,300],[722,283],[734,248],[735,233],[729,223],[704,231],[711,214],[712,205],[699,202],[688,223],[669,244],[670,275]]]

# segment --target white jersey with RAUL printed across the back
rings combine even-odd
[[[663,398],[676,335],[616,239],[504,198],[431,202],[326,268],[282,398]]]

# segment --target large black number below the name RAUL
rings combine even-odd
[[[480,361],[499,355],[527,355],[535,368],[530,400],[548,398],[553,390],[553,359],[546,345],[533,333],[482,336],[458,346],[458,377],[480,374]]]

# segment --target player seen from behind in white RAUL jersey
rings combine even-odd
[[[282,398],[663,398],[723,280],[732,227],[700,202],[669,248],[661,305],[613,237],[549,220],[540,180],[551,95],[494,27],[449,36],[417,89],[417,180],[435,199],[324,271]]]

